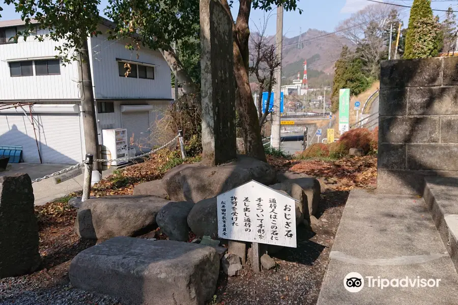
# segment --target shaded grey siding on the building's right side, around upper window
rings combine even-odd
[[[106,28],[100,29],[102,33]],[[140,49],[139,58],[136,52],[125,48],[127,41],[117,42],[106,40],[106,35],[91,38],[91,65],[96,98],[108,99],[170,99],[170,68],[158,51],[147,48]],[[136,60],[155,67],[155,79],[127,78],[119,76],[116,58]]]

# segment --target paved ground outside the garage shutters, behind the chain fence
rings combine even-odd
[[[32,180],[41,178],[44,175],[60,171],[74,164],[36,164],[36,163],[9,163],[7,170],[0,172],[0,176],[14,174],[14,173],[27,173]],[[107,171],[102,173],[106,177],[113,173],[116,167],[110,167]],[[79,175],[70,180],[55,184],[54,177],[35,182],[32,186],[34,188],[35,205],[43,205],[56,198],[61,198],[74,191],[82,190],[83,175]]]

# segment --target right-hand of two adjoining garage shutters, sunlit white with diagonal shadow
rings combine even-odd
[[[43,163],[79,163],[81,133],[77,114],[40,114]]]

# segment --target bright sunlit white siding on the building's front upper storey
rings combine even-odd
[[[46,34],[39,31],[38,34]],[[63,66],[60,75],[11,77],[9,64],[5,60],[58,55],[54,50],[59,42],[46,39],[43,42],[30,37],[26,42],[19,37],[18,43],[0,45],[0,90],[1,100],[27,99],[78,99],[76,63]],[[34,68],[35,69],[35,68]],[[8,89],[5,89],[8,88]],[[54,102],[55,104],[55,102]]]

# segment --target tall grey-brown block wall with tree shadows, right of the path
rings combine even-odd
[[[381,64],[377,189],[422,194],[424,176],[458,176],[458,58]]]

